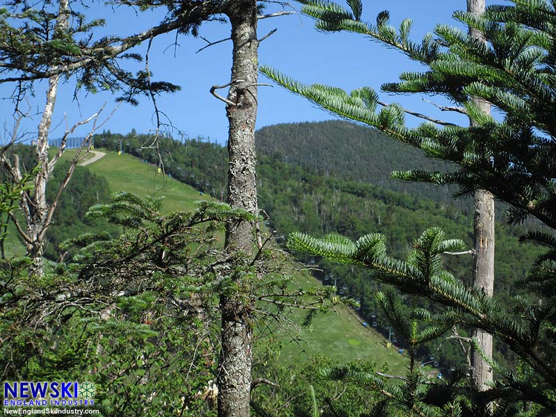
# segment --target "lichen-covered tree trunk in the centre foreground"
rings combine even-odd
[[[256,1],[232,1],[227,10],[234,43],[231,87],[227,106],[229,122],[228,202],[233,207],[257,213],[255,183],[256,83],[259,41],[256,38]],[[224,249],[234,254],[236,265],[246,266],[253,254],[254,225],[250,222],[227,224]],[[218,416],[249,417],[252,328],[250,306],[241,297],[220,296],[222,347],[218,372]]]

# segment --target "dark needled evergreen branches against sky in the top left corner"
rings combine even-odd
[[[19,106],[34,81],[53,75],[76,76],[75,90],[121,90],[119,99],[132,104],[137,103],[137,95],[154,99],[162,92],[179,90],[178,85],[155,81],[148,70],[133,74],[122,65],[124,60],[141,61],[142,56],[129,49],[178,28],[177,19],[138,35],[99,36],[104,19],[88,20],[71,6],[72,1],[67,2],[66,8],[60,4],[49,1],[35,7],[14,1],[0,13],[0,60],[5,63],[0,70],[0,83],[17,84],[15,106]],[[181,25],[186,26],[187,20],[182,17]]]

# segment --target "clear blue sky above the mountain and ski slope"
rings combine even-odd
[[[487,1],[487,3],[491,2]],[[363,18],[366,20],[374,21],[377,13],[384,9],[391,11],[391,22],[395,26],[398,26],[404,17],[413,19],[412,38],[414,40],[433,31],[437,23],[455,24],[451,17],[452,12],[466,7],[464,0],[363,1],[363,4],[365,6]],[[299,8],[296,3],[293,3],[293,6]],[[268,11],[275,11],[275,9],[269,8]],[[88,15],[106,18],[105,33],[119,35],[137,33],[161,19],[161,15],[157,13],[136,15],[126,8],[113,10],[99,4],[93,6]],[[278,31],[261,43],[259,63],[271,65],[305,83],[326,83],[346,90],[362,85],[379,88],[379,85],[384,82],[397,80],[398,74],[402,71],[420,68],[397,51],[361,35],[318,33],[313,28],[313,21],[300,14],[261,20],[259,38],[273,28],[277,28]],[[202,26],[201,35],[211,41],[228,38],[229,24],[211,22]],[[149,66],[154,72],[155,79],[171,81],[182,87],[182,90],[174,95],[159,98],[158,106],[172,124],[183,133],[188,133],[190,136],[210,136],[211,140],[223,143],[227,138],[225,105],[211,96],[208,90],[213,84],[225,84],[229,81],[231,42],[222,42],[196,54],[195,51],[206,44],[204,40],[180,35],[177,39],[179,46],[175,48],[172,47],[174,40],[175,34],[172,33],[155,39],[152,45]],[[146,44],[137,49],[140,54],[145,54],[145,50]],[[261,76],[261,82],[268,82],[268,80]],[[35,97],[31,99],[35,110],[42,109],[45,85],[46,83],[42,82],[35,87]],[[73,124],[95,113],[104,101],[108,101],[106,114],[116,106],[115,97],[103,92],[96,95],[81,95],[78,104],[78,101],[72,98],[73,87],[72,80],[60,86],[53,126],[63,120],[64,113],[67,113],[67,122]],[[2,97],[6,97],[9,92],[10,86],[0,87]],[[435,111],[435,108],[426,104],[421,97],[382,96],[385,101],[398,100],[415,111],[440,118],[449,117],[445,113]],[[0,120],[9,124],[10,114],[10,106],[4,101]],[[281,122],[331,118],[333,118],[331,115],[305,99],[277,86],[259,88],[258,128]],[[465,123],[461,118],[450,120]],[[25,129],[35,131],[37,123],[38,119],[27,121],[24,124]],[[57,129],[53,129],[51,137],[59,137],[63,133],[63,126],[65,122]],[[140,105],[137,107],[122,104],[105,125],[106,129],[119,133],[128,133],[132,128],[138,132],[147,132],[154,127],[152,103],[146,97],[140,99]],[[79,133],[83,131],[84,129],[81,129]]]

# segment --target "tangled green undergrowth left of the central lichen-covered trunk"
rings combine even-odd
[[[19,264],[3,268],[1,331],[13,339],[0,351],[3,379],[88,375],[104,416],[211,415],[203,397],[215,377],[213,288],[226,291],[238,273],[219,266],[218,231],[254,218],[226,204],[197,206],[162,215],[161,199],[119,193],[88,217],[124,227],[121,236],[67,241],[81,249],[40,280]]]

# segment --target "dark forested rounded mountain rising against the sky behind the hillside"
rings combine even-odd
[[[407,183],[391,179],[393,170],[450,171],[455,165],[426,158],[423,152],[383,133],[352,122],[284,123],[256,131],[257,152],[281,158],[286,163],[313,170],[325,177],[369,182],[382,188],[432,198],[463,209],[469,199],[454,200],[454,187],[435,187],[426,183]]]

